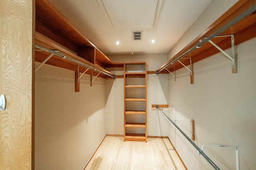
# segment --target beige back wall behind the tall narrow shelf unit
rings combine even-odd
[[[166,54],[145,55],[109,55],[112,62],[147,62],[148,71],[155,71],[167,61]],[[121,70],[113,70],[116,74],[123,74]],[[106,104],[106,133],[124,134],[124,80],[118,78],[109,80],[106,94],[110,94]],[[167,104],[168,80],[167,75],[148,74],[148,135],[168,136],[168,121],[156,110],[152,104]]]

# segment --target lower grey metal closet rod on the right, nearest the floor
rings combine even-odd
[[[156,105],[156,108],[159,109],[159,110],[172,122],[172,124],[180,131],[180,133],[182,133],[182,135],[183,135],[186,139],[188,139],[188,141],[193,145],[193,147],[195,147],[196,150],[198,150],[198,152],[199,152],[202,156],[204,156],[204,158],[214,167],[214,169],[220,170],[220,168],[218,168],[218,166],[216,166],[216,164],[214,164],[214,162],[212,162],[212,160],[210,160],[210,158],[209,158],[206,154],[204,154],[204,152],[186,135],[186,133],[184,133],[184,132],[180,129],[180,127],[178,127],[178,125],[176,125],[176,123],[174,123],[174,121],[172,121],[172,119],[170,119],[170,117],[168,117],[168,116],[166,115],[166,113],[164,113],[164,111],[162,111],[162,110],[160,109],[160,107],[159,107],[158,105]]]

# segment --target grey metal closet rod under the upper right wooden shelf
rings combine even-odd
[[[196,47],[201,47],[204,43],[206,43],[207,41],[211,40],[212,38],[214,38],[215,36],[219,35],[220,33],[222,33],[223,31],[225,31],[226,29],[228,29],[229,27],[231,27],[232,25],[234,25],[235,23],[237,23],[238,21],[242,20],[243,18],[245,18],[246,16],[252,14],[254,11],[256,11],[256,4],[254,4],[253,6],[251,6],[248,10],[246,10],[245,12],[243,12],[242,14],[240,14],[239,16],[237,16],[236,18],[234,18],[232,21],[230,21],[229,23],[227,23],[226,25],[224,25],[223,27],[221,27],[220,29],[218,29],[218,31],[216,31],[215,33],[213,33],[212,35],[210,35],[209,37],[206,37],[204,40],[202,40],[200,43],[198,43],[197,45],[195,45],[194,47],[192,47],[191,49],[189,49],[188,51],[186,51],[185,53],[183,53],[182,55],[180,55],[180,57],[174,59],[171,63],[167,64],[166,66],[164,66],[163,68],[161,68],[159,71],[156,71],[156,74],[159,74],[162,70],[164,70],[166,67],[168,67],[170,64],[174,64],[176,61],[178,61],[179,59],[185,57],[186,55],[188,55],[189,53],[191,53],[192,51],[194,51],[196,49]]]

